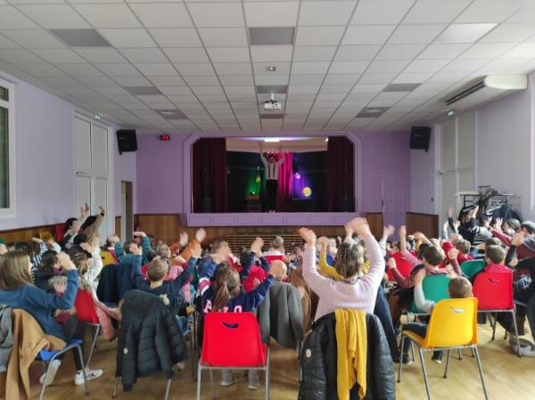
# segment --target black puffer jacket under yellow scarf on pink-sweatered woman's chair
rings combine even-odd
[[[303,379],[299,400],[338,400],[336,388],[336,318],[327,314],[314,322],[300,355]],[[366,314],[367,360],[364,400],[395,400],[396,384],[388,341],[383,326],[374,314]],[[350,391],[358,400],[358,384]]]

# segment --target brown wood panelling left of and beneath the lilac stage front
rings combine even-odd
[[[193,237],[197,228],[182,226],[180,217],[177,214],[137,214],[134,217],[145,233],[153,234],[157,239],[166,243],[173,243],[178,240],[180,233],[185,232]],[[290,235],[297,233],[300,226],[214,226],[205,227],[207,242],[217,238],[226,238],[236,234],[272,234],[273,236]],[[344,236],[343,226],[309,226],[316,232],[317,236]]]

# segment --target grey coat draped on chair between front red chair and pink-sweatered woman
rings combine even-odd
[[[295,349],[304,338],[300,291],[290,283],[273,282],[257,308],[257,318],[263,343],[272,337],[279,345]]]

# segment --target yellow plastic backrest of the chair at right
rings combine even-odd
[[[424,347],[477,344],[477,298],[446,298],[432,310]]]

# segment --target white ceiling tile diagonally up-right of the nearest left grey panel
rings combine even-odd
[[[94,28],[141,28],[127,4],[72,4]]]

